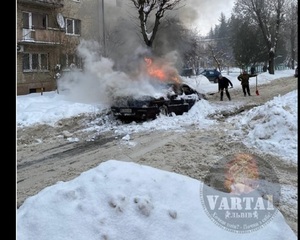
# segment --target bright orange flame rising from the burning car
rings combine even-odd
[[[163,82],[173,81],[180,83],[180,78],[174,69],[171,69],[167,64],[156,64],[151,58],[144,58],[149,76],[159,79]]]

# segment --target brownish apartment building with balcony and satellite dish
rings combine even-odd
[[[87,10],[82,0],[17,0],[17,95],[53,91],[57,73],[82,68],[76,55],[82,28],[88,35],[91,19],[100,18],[98,1],[89,2]]]

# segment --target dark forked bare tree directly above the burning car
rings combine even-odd
[[[184,0],[131,0],[138,9],[141,33],[147,47],[152,47],[161,18],[167,10],[174,10]],[[154,13],[154,22],[151,14]],[[150,27],[152,26],[152,27]]]

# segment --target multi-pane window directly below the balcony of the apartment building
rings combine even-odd
[[[45,53],[24,53],[23,71],[48,71],[48,54]]]

